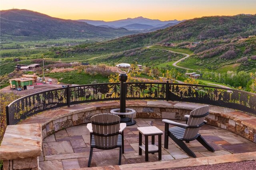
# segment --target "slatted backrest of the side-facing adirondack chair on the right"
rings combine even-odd
[[[206,113],[208,113],[209,111],[209,108],[210,106],[202,106],[202,107],[199,107],[197,109],[194,109],[190,112],[190,116],[188,118],[188,123],[187,125],[189,126],[198,126],[196,128],[187,128],[184,132],[184,135],[183,135],[183,139],[193,139],[194,137],[196,137],[196,135],[198,134],[198,131],[200,129],[200,125],[204,122],[204,119],[206,117],[203,116],[203,117],[200,117],[200,115],[204,115]],[[192,116],[199,116],[199,117],[192,117]]]

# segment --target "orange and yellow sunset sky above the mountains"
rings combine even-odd
[[[1,0],[1,10],[12,8],[72,20],[114,21],[143,16],[164,21],[256,14],[256,0]]]

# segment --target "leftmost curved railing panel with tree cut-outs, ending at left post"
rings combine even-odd
[[[10,125],[36,113],[67,106],[67,89],[58,88],[24,96],[8,105]]]

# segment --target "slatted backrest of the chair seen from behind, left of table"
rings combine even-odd
[[[120,117],[111,113],[102,113],[91,117],[95,146],[108,149],[117,146]]]

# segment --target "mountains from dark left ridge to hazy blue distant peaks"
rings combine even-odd
[[[30,10],[1,10],[0,28],[2,34],[48,37],[122,37],[139,32],[154,31],[181,21],[160,21],[148,18],[127,18],[118,21],[64,20]]]

